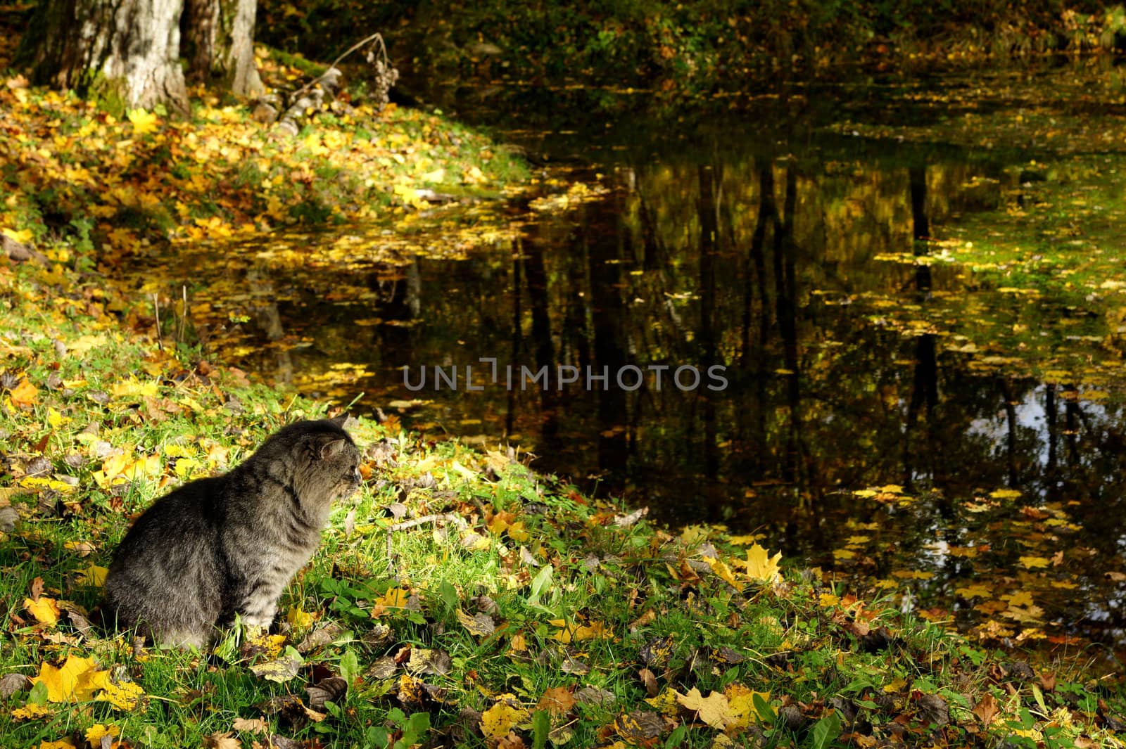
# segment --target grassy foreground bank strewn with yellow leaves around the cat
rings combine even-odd
[[[0,265],[3,746],[1117,746],[1112,678],[391,422],[352,427],[367,478],[276,634],[138,650],[87,621],[131,515],[325,406],[172,355],[132,305]]]

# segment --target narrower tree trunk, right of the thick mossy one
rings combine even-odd
[[[265,90],[254,65],[256,7],[257,0],[186,0],[184,48],[193,82],[236,96]]]

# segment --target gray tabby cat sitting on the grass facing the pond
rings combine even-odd
[[[269,626],[283,588],[313,554],[333,499],[359,486],[343,417],[291,424],[229,473],[158,499],[106,577],[107,622],[162,644],[203,647],[235,614]]]

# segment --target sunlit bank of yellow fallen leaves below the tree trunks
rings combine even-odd
[[[269,54],[259,63],[267,81],[305,80]],[[203,90],[177,120],[159,109],[115,117],[19,74],[5,83],[0,229],[63,262],[113,268],[155,244],[382,222],[436,195],[495,197],[527,178],[481,133],[393,105],[342,97],[291,137]]]

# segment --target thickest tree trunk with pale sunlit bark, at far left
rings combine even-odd
[[[36,83],[90,93],[110,111],[188,109],[180,70],[184,0],[44,0],[20,56]]]

